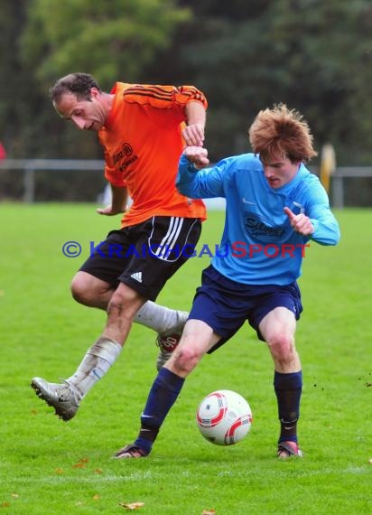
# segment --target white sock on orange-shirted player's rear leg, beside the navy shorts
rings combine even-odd
[[[188,313],[169,309],[152,301],[147,301],[135,315],[135,323],[141,323],[156,332],[168,332],[170,329],[180,332],[186,323]]]

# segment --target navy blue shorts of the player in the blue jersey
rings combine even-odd
[[[222,337],[210,353],[228,342],[246,320],[256,330],[258,338],[264,340],[258,325],[275,307],[286,307],[296,320],[300,318],[301,293],[296,282],[286,286],[249,286],[222,276],[210,265],[203,270],[189,319],[208,323]]]

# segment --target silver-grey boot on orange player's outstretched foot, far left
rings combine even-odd
[[[42,378],[33,378],[31,386],[36,395],[51,406],[62,420],[67,422],[75,417],[79,409],[79,398],[76,389],[67,381],[63,383],[49,383]]]

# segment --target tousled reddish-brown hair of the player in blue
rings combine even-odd
[[[302,115],[285,104],[261,110],[249,128],[249,142],[263,161],[287,157],[307,163],[317,155],[312,134]]]

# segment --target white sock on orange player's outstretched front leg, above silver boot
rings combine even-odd
[[[122,349],[119,343],[106,336],[99,337],[98,341],[90,347],[79,364],[78,370],[73,376],[66,379],[70,385],[77,389],[79,400],[107,373]]]

